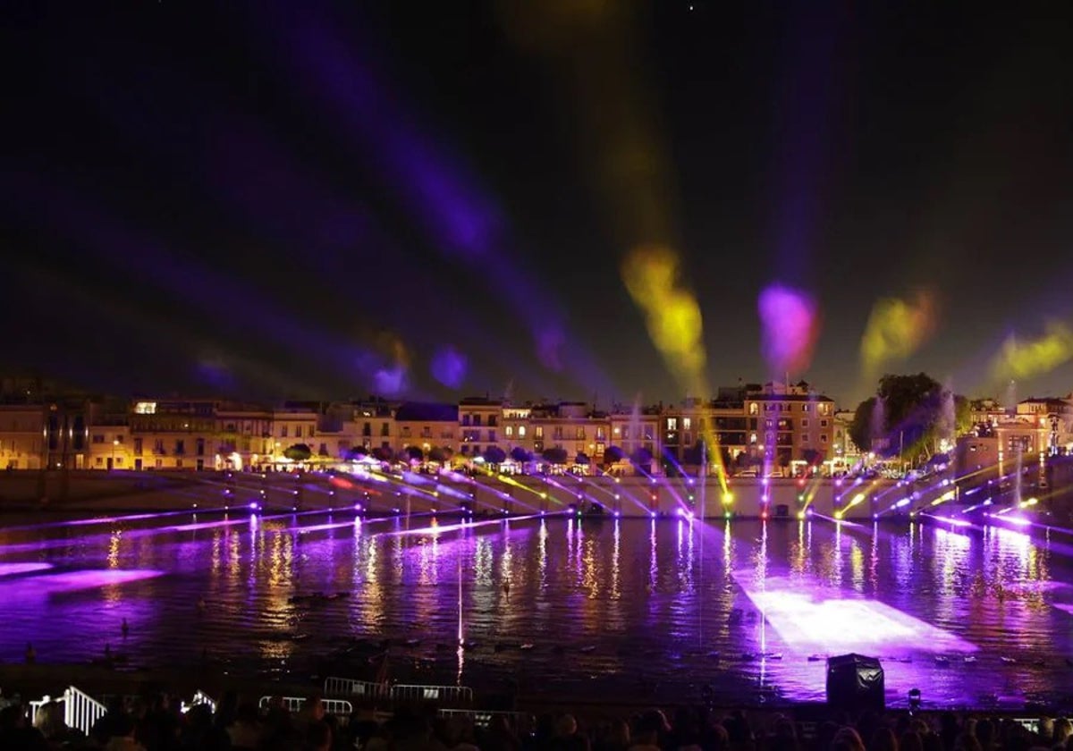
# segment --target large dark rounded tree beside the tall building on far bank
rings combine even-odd
[[[969,400],[926,373],[887,374],[877,395],[857,404],[849,433],[864,452],[873,446],[883,456],[902,452],[915,463],[930,458],[942,439],[968,431],[971,422]]]

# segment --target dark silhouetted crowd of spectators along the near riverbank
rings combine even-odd
[[[231,694],[214,713],[207,705],[180,711],[164,695],[117,700],[88,735],[68,727],[63,707],[48,703],[31,720],[28,707],[0,709],[0,749],[106,751],[1073,751],[1064,718],[1025,723],[1009,718],[944,713],[864,712],[851,721],[832,713],[800,722],[791,715],[750,716],[681,708],[668,719],[651,709],[630,719],[573,715],[532,717],[493,712],[441,717],[435,707],[401,708],[391,716],[358,710],[337,718],[319,698],[298,712],[281,701],[267,709]]]

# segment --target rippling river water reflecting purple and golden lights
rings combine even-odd
[[[823,701],[854,651],[890,704],[1013,707],[1071,693],[1071,553],[822,519],[8,517],[0,659],[756,705]]]

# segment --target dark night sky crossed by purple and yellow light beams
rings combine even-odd
[[[784,377],[778,283],[815,312],[790,376],[844,406],[873,306],[922,295],[880,371],[1001,397],[1049,333],[1017,396],[1067,394],[1073,6],[945,5],[9,4],[0,368],[677,400],[621,273],[659,241],[710,386]]]

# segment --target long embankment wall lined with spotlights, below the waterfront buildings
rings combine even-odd
[[[829,478],[439,475],[417,472],[0,473],[0,511],[69,513],[304,511],[350,507],[368,515],[471,513],[526,516],[600,506],[621,517],[846,519],[906,515],[947,492],[894,481]],[[915,497],[914,497],[915,495]],[[908,499],[908,500],[907,500]],[[900,504],[900,505],[899,505]]]

